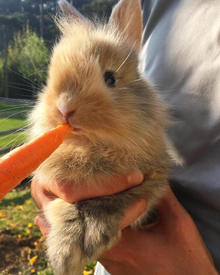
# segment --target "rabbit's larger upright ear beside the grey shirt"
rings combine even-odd
[[[112,10],[109,24],[119,27],[137,51],[141,47],[142,15],[140,0],[120,0]]]

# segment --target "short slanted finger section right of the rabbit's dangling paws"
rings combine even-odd
[[[125,213],[125,217],[121,222],[120,229],[124,229],[129,226],[132,222],[137,220],[147,209],[147,201],[139,200],[134,203]]]

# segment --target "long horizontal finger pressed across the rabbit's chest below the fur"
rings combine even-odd
[[[117,175],[105,179],[105,182],[97,182],[97,184],[88,185],[87,182],[82,182],[79,185],[71,184],[57,184],[54,182],[50,185],[48,195],[54,194],[55,196],[68,201],[79,202],[82,200],[111,196],[115,193],[122,192],[126,189],[140,184],[144,180],[142,174],[131,175]]]

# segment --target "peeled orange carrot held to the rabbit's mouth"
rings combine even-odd
[[[0,201],[35,171],[72,130],[68,124],[61,124],[3,156],[0,159]]]

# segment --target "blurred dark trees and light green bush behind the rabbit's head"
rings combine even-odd
[[[85,16],[108,18],[116,1],[70,2]],[[51,15],[57,9],[57,0],[0,0],[1,97],[32,96],[46,79],[50,49],[58,34]],[[27,81],[31,87],[24,90]]]

